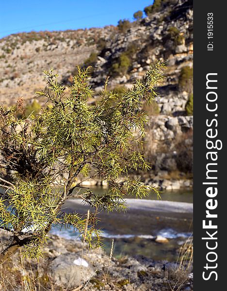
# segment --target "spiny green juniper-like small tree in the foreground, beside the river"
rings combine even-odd
[[[47,87],[36,94],[46,97],[48,105],[40,114],[17,118],[13,108],[0,107],[0,186],[4,189],[0,228],[13,234],[0,262],[20,246],[26,247],[25,255],[37,258],[56,224],[73,226],[89,246],[98,246],[98,210],[124,210],[126,194],[143,197],[153,190],[159,195],[154,187],[131,180],[128,172],[149,169],[143,154],[136,150],[142,144],[138,135],[144,136],[147,121],[140,108],[142,102],[157,95],[154,87],[163,80],[163,68],[162,62],[151,66],[143,81],[118,96],[117,103],[116,94],[107,91],[106,81],[101,99],[94,99],[93,105],[87,103],[93,97],[87,84],[88,69],[78,68],[68,96],[57,82],[58,75],[44,71]],[[19,101],[16,112],[23,113]],[[66,178],[60,178],[61,173],[66,173]],[[109,191],[97,196],[82,187],[77,179],[81,173],[84,180],[108,180]],[[122,175],[125,178],[119,182]],[[89,217],[63,213],[61,208],[71,197],[80,197],[95,211]]]

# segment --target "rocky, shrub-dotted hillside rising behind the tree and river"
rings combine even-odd
[[[186,115],[193,113],[192,1],[155,2],[158,7],[146,17],[131,23],[122,20],[117,27],[18,33],[2,38],[0,102],[12,105],[16,97],[23,96],[31,109],[35,90],[45,87],[44,69],[53,68],[67,86],[76,65],[92,65],[90,83],[98,98],[107,76],[111,77],[109,89],[121,93],[143,78],[150,63],[166,60],[168,69],[160,95],[144,108],[150,117],[146,155],[155,164],[149,178],[190,178],[193,117]],[[38,102],[43,105],[42,99]]]

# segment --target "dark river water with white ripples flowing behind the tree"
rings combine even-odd
[[[105,192],[105,188],[96,187],[92,189],[96,194]],[[107,253],[110,252],[112,239],[114,239],[114,256],[125,255],[143,255],[152,259],[176,260],[180,246],[192,236],[192,191],[171,191],[161,194],[162,201],[175,201],[174,205],[179,211],[162,209],[162,201],[158,204],[159,208],[149,208],[146,201],[143,201],[142,207],[138,200],[133,201],[133,208],[127,212],[101,212],[98,227],[102,229],[102,243]],[[150,194],[145,199],[157,200],[155,194]],[[186,202],[186,203],[181,203]],[[147,205],[146,205],[147,204]],[[160,207],[161,205],[161,207]],[[180,211],[181,206],[190,206],[190,211]],[[68,201],[65,204],[64,211],[86,213],[87,207],[75,200]],[[172,208],[171,208],[172,209]],[[52,233],[59,234],[68,239],[78,237],[78,233],[72,233],[70,229],[64,229],[59,232],[57,227],[52,229]],[[161,235],[168,239],[167,243],[155,242],[155,237]]]

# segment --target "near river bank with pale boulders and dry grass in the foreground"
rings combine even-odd
[[[89,251],[80,240],[56,235],[49,239],[39,262],[25,259],[22,264],[22,254],[17,252],[0,267],[2,290],[23,290],[22,285],[29,281],[31,289],[27,290],[40,291],[168,291],[170,286],[193,290],[189,265],[133,254],[116,259],[100,248]]]

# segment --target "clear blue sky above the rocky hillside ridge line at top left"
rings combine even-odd
[[[103,27],[132,20],[153,0],[1,0],[0,38],[31,31]]]

